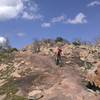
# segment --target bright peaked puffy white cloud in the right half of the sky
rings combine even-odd
[[[85,19],[86,16],[83,13],[79,13],[74,19],[68,19],[66,23],[68,24],[84,24],[87,23]]]

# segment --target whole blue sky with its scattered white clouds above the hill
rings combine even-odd
[[[0,0],[0,36],[22,48],[34,39],[100,37],[100,0]]]

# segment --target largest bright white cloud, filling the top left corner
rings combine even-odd
[[[17,17],[23,11],[23,3],[20,0],[0,0],[0,20]]]

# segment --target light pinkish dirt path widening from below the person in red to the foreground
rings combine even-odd
[[[59,81],[45,91],[41,100],[100,100],[99,96],[89,93],[82,84],[77,64],[58,66]]]

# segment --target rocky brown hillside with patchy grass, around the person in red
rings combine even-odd
[[[100,100],[99,47],[63,44],[62,67],[55,64],[57,45],[38,47],[1,56],[0,100]]]

